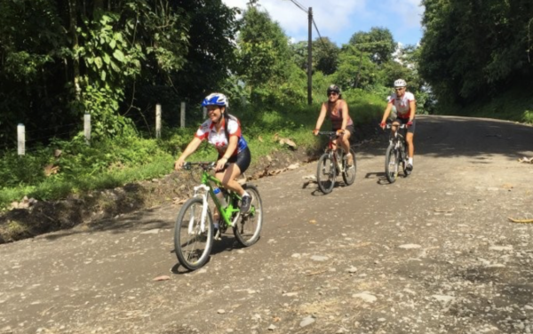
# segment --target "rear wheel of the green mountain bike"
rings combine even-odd
[[[237,226],[234,234],[237,241],[244,247],[257,243],[263,228],[263,202],[259,196],[259,190],[252,185],[244,185],[244,190],[251,195],[251,206],[248,213],[241,213],[240,219],[236,219]]]

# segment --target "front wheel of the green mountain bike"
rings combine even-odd
[[[189,199],[176,219],[174,227],[174,250],[179,263],[189,270],[196,270],[209,259],[213,245],[213,218],[207,210],[202,227],[203,199]]]

